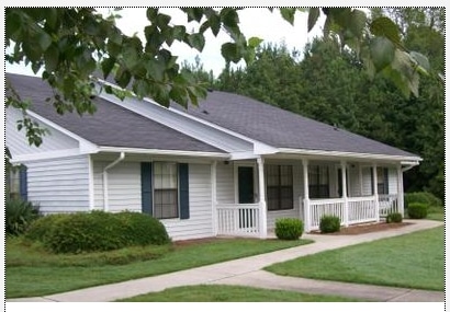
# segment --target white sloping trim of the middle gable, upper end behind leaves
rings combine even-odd
[[[112,84],[112,83],[110,83],[110,82],[108,82],[108,81],[104,81],[104,80],[101,80],[101,79],[100,79],[100,81],[101,81],[102,83],[108,84],[108,85],[111,85],[111,86],[113,86],[113,88],[119,88],[119,89],[121,89],[120,86],[117,86],[117,85],[115,85],[115,84]],[[105,100],[111,101],[110,94],[104,94],[103,92],[100,92],[100,89],[98,90],[98,92],[99,92],[99,96],[100,96],[100,97],[103,97],[103,99],[105,99]],[[133,94],[134,94],[134,93],[133,93]],[[134,95],[135,95],[135,94],[134,94]],[[277,152],[278,152],[278,149],[274,148],[274,147],[272,147],[272,146],[266,145],[266,143],[263,143],[263,142],[260,142],[260,141],[258,141],[258,140],[251,139],[251,138],[246,137],[246,136],[244,136],[244,135],[240,135],[240,134],[238,134],[238,132],[232,131],[232,130],[229,130],[229,129],[227,129],[227,128],[217,126],[217,125],[215,125],[215,124],[213,124],[213,123],[211,123],[211,122],[207,122],[207,120],[204,120],[204,119],[202,119],[202,118],[192,116],[192,115],[190,115],[190,114],[188,114],[188,113],[184,113],[184,112],[175,109],[175,108],[172,108],[172,107],[162,106],[162,105],[158,104],[157,102],[155,102],[154,100],[151,100],[151,99],[149,99],[149,97],[144,97],[143,101],[145,101],[145,102],[147,102],[147,103],[149,103],[149,104],[151,104],[151,105],[156,105],[156,106],[158,106],[158,107],[160,107],[160,108],[167,109],[167,111],[169,111],[169,112],[171,112],[171,113],[173,113],[173,114],[181,115],[181,116],[183,116],[183,117],[185,117],[185,118],[189,118],[189,119],[194,120],[194,122],[196,122],[196,123],[199,123],[199,124],[205,125],[205,126],[207,126],[207,127],[211,127],[211,128],[216,129],[216,130],[218,130],[218,131],[222,131],[222,132],[224,132],[224,134],[227,134],[227,135],[229,135],[229,136],[233,136],[233,137],[235,137],[235,138],[238,138],[238,139],[244,140],[244,141],[247,141],[247,142],[249,142],[249,143],[252,143],[252,145],[254,145],[255,158],[256,158],[257,155],[259,155],[259,154],[273,154],[273,153],[277,153]],[[113,101],[113,102],[114,102],[114,101]],[[116,103],[116,102],[114,102],[114,103]],[[119,103],[117,103],[117,104],[119,104]],[[128,109],[131,109],[131,108],[128,108]],[[131,111],[132,111],[132,109],[131,109]],[[148,117],[147,117],[147,118],[148,118]],[[160,123],[160,122],[158,122],[158,123]],[[170,125],[165,124],[165,126],[177,130],[176,128],[171,127]],[[177,130],[177,131],[179,131],[179,130]]]

